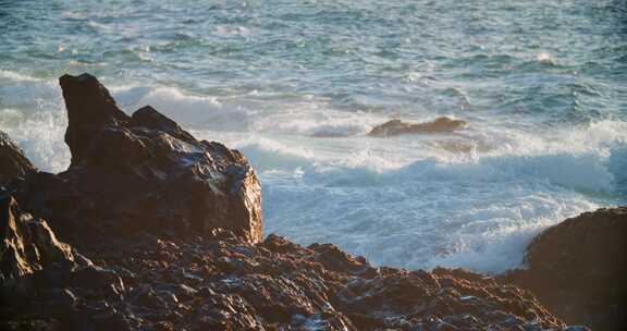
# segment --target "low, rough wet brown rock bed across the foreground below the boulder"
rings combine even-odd
[[[27,321],[11,322],[62,330],[565,329],[532,295],[491,278],[374,268],[333,245],[302,247],[274,235],[251,244],[225,231],[144,233],[84,253],[99,267],[69,271],[33,299]]]

